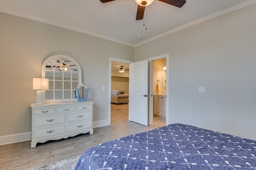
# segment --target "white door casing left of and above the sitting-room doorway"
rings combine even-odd
[[[111,67],[112,67],[112,61],[125,63],[125,64],[133,63],[133,61],[117,59],[117,58],[113,58],[113,57],[109,57],[109,59],[108,59],[108,125],[110,125],[110,123],[111,123],[111,74],[112,74]]]

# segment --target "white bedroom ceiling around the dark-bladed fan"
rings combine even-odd
[[[254,3],[256,0],[187,0],[177,8],[154,0],[146,10],[147,30],[143,20],[135,20],[138,5],[134,0],[104,4],[100,0],[0,0],[0,11],[137,47]]]

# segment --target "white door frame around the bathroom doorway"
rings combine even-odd
[[[148,125],[153,124],[153,61],[166,58],[166,125],[169,125],[169,54],[159,55],[148,59],[149,62],[149,101]]]

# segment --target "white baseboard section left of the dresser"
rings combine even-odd
[[[0,145],[31,140],[31,132],[0,136]]]

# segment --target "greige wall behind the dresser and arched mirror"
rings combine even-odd
[[[31,131],[32,78],[51,55],[64,54],[82,67],[93,121],[108,119],[109,57],[134,61],[134,47],[54,25],[0,13],[0,136]],[[105,86],[105,90],[102,90]]]

